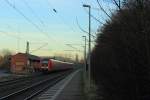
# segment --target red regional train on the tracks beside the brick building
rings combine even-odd
[[[41,59],[41,70],[43,72],[67,70],[72,68],[73,68],[73,63],[63,62],[63,61],[48,59],[48,58]]]

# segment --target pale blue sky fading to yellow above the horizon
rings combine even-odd
[[[102,22],[108,19],[96,10],[96,0],[0,0],[0,50],[25,52],[29,41],[31,54],[82,56],[82,36],[88,34],[79,29],[77,22],[88,31],[88,9],[83,4],[90,4],[92,14]],[[109,0],[102,5],[114,8]],[[92,19],[92,34],[100,26]],[[73,44],[74,48],[66,44]]]

